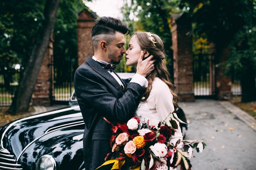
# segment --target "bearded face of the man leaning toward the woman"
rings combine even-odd
[[[108,47],[108,59],[110,59],[110,63],[120,63],[123,54],[126,52],[124,49],[124,43],[124,34],[116,31],[116,37]]]

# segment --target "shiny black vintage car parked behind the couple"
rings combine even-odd
[[[132,76],[119,75],[127,82]],[[85,170],[83,131],[73,91],[68,107],[0,127],[0,170]]]

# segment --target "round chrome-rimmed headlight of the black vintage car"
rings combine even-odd
[[[50,155],[43,155],[36,162],[36,170],[56,170],[56,162]]]

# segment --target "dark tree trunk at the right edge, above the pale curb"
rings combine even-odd
[[[248,58],[242,58],[241,64],[246,69],[240,80],[242,88],[241,102],[256,101],[255,71],[253,70],[253,65]]]

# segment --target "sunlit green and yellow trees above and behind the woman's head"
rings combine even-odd
[[[171,48],[171,14],[179,13],[179,0],[132,0],[124,1],[122,8],[124,21],[128,24],[131,32],[138,30],[153,32],[161,37],[167,54],[167,63],[170,74],[173,75],[173,50]],[[134,15],[137,21],[130,20]]]

